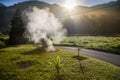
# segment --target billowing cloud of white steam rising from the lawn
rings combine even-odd
[[[48,46],[47,51],[54,51],[53,43],[59,43],[66,35],[66,29],[61,22],[49,11],[49,8],[33,7],[32,11],[25,12],[25,16],[27,30],[34,43],[41,43],[41,39],[44,39]]]

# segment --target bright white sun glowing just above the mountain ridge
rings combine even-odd
[[[65,3],[63,4],[65,8],[72,10],[77,5],[76,0],[65,0]]]

